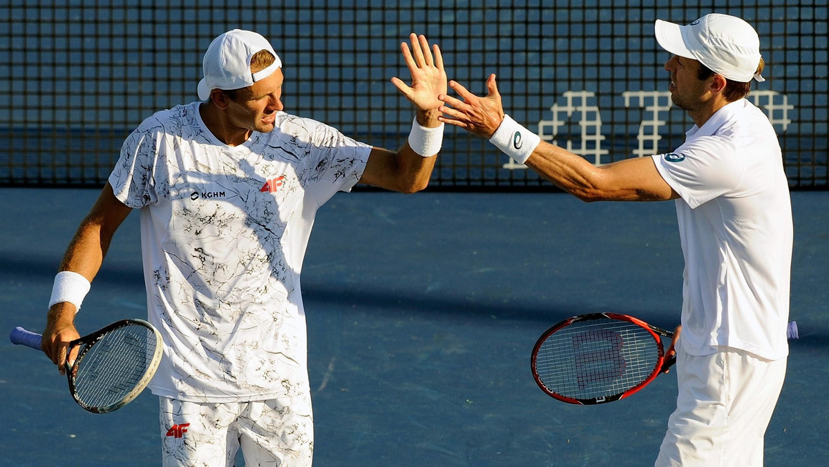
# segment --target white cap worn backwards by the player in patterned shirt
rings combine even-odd
[[[269,51],[276,60],[264,70],[251,73],[250,58],[259,51]],[[208,100],[211,90],[238,90],[264,80],[282,68],[282,61],[263,36],[234,29],[213,39],[201,67],[205,77],[199,81],[199,99]]]

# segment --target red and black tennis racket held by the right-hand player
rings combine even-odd
[[[671,338],[671,331],[627,314],[574,316],[541,334],[532,349],[532,374],[541,390],[559,401],[618,401],[676,362],[676,356],[665,357]],[[788,338],[798,338],[794,321],[788,323]]]

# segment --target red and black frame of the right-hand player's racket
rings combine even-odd
[[[589,397],[589,398],[578,398],[578,397],[569,397],[563,396],[557,392],[551,391],[550,388],[546,387],[544,382],[541,381],[541,377],[538,374],[538,370],[536,368],[536,358],[538,357],[538,352],[541,349],[541,346],[545,343],[547,338],[550,337],[550,334],[555,333],[556,331],[560,330],[561,328],[565,328],[572,323],[578,323],[581,321],[589,321],[593,319],[615,319],[620,321],[628,321],[629,323],[633,323],[638,325],[640,328],[647,330],[653,337],[657,345],[658,357],[657,363],[654,365],[652,372],[639,382],[636,386],[629,388],[623,392],[618,394],[613,394],[609,396],[599,396],[599,397]],[[659,376],[660,373],[666,372],[671,365],[676,362],[676,356],[671,356],[671,358],[665,358],[665,347],[662,344],[662,337],[664,338],[673,338],[673,333],[671,331],[667,331],[662,328],[657,328],[656,326],[652,326],[651,324],[645,323],[642,319],[634,318],[633,316],[629,316],[628,314],[618,314],[618,313],[589,313],[589,314],[579,314],[578,316],[573,316],[571,318],[565,319],[560,323],[555,323],[552,327],[547,329],[544,333],[541,334],[541,337],[538,338],[536,341],[536,345],[532,349],[531,358],[530,358],[530,366],[532,370],[532,376],[536,380],[536,384],[538,387],[541,387],[541,391],[544,391],[548,396],[554,397],[555,399],[567,402],[568,404],[577,404],[582,406],[592,406],[596,404],[604,404],[607,402],[618,401],[619,399],[624,399],[625,397],[631,396],[634,393],[638,392],[642,387],[647,386],[648,383],[652,382],[654,378]]]

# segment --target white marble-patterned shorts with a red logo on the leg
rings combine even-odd
[[[201,404],[161,400],[164,467],[308,466],[313,457],[310,396]]]

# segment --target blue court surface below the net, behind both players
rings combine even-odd
[[[0,189],[0,330],[41,331],[65,246],[96,191]],[[827,192],[793,193],[788,377],[766,465],[827,465]],[[673,328],[682,258],[673,204],[563,194],[356,192],[318,216],[303,270],[318,466],[652,465],[672,374],[624,401],[569,406],[529,369],[536,338],[613,311]],[[146,315],[138,214],[116,234],[80,333]],[[159,465],[158,399],[87,413],[46,357],[0,343],[0,465]]]

